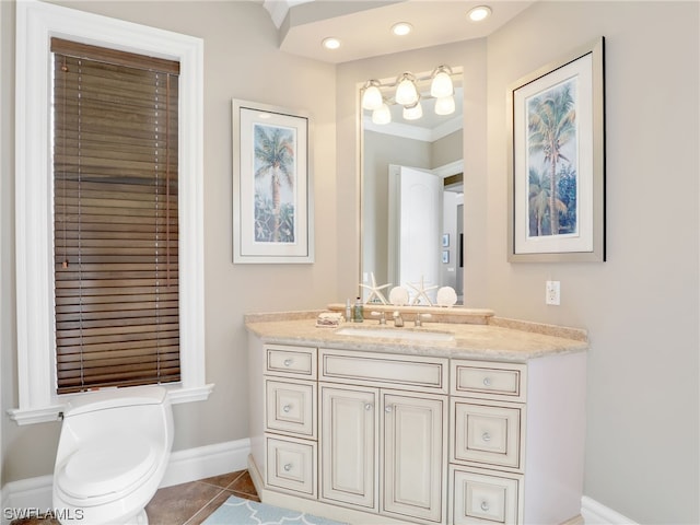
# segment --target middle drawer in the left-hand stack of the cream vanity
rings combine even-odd
[[[265,381],[267,430],[316,439],[316,383]]]

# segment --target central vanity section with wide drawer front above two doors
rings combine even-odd
[[[322,501],[444,523],[447,364],[319,349]]]

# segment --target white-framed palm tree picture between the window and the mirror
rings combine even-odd
[[[313,262],[310,117],[233,100],[233,261]]]

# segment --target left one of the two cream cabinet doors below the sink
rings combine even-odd
[[[377,509],[377,389],[320,385],[320,499]]]

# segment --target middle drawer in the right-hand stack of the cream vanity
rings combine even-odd
[[[520,468],[523,410],[452,399],[452,460]]]

